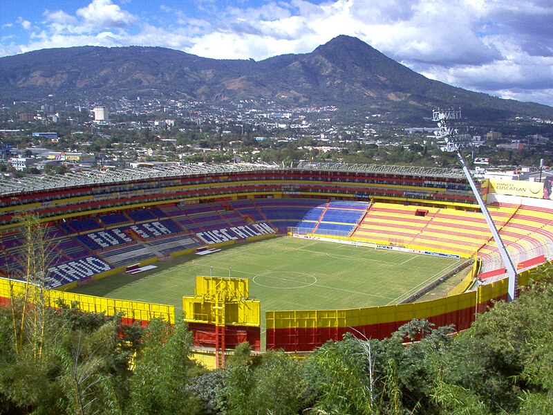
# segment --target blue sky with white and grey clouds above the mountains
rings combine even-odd
[[[136,45],[259,61],[338,35],[433,80],[553,106],[553,0],[0,0],[0,57]]]

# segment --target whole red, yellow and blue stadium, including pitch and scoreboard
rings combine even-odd
[[[553,257],[553,205],[543,199],[543,183],[489,179],[478,186],[518,284],[525,284]],[[126,322],[142,324],[153,317],[174,322],[182,308],[198,348],[221,351],[247,341],[258,350],[311,351],[346,332],[385,338],[413,318],[462,330],[507,298],[505,264],[460,169],[174,165],[3,180],[0,193],[2,302],[28,275],[19,217],[35,214],[51,248],[41,279],[50,304],[123,313]],[[303,245],[281,248],[277,241]],[[231,266],[237,257],[250,258],[254,268]],[[209,258],[220,258],[218,266],[209,266]],[[268,268],[255,268],[264,262]],[[281,268],[288,263],[291,270]],[[390,268],[400,263],[406,265]],[[159,300],[144,301],[164,286],[158,271],[179,264],[200,266],[187,268],[196,273],[187,275],[189,285],[166,284]],[[382,276],[365,278],[376,275],[377,265]],[[147,273],[153,277],[140,277]],[[451,275],[456,286],[447,296],[413,302]],[[109,293],[117,291],[105,288],[146,280],[156,285],[137,298],[113,298]],[[104,291],[84,294],[99,286]],[[192,288],[179,292],[182,286]],[[256,298],[254,286],[262,293]],[[333,291],[319,298],[296,289],[309,287]],[[271,301],[277,292],[281,297]],[[163,301],[183,295],[180,304]]]

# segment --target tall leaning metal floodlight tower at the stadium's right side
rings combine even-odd
[[[435,136],[443,138],[446,144],[445,151],[456,151],[459,162],[461,163],[462,170],[467,176],[467,181],[471,186],[472,192],[478,201],[480,210],[484,214],[489,230],[496,241],[497,248],[507,269],[507,275],[509,277],[509,288],[507,290],[507,301],[512,301],[516,298],[516,270],[514,268],[511,257],[505,248],[505,244],[501,239],[499,232],[497,231],[496,224],[491,215],[489,214],[486,203],[483,201],[480,192],[474,183],[471,172],[469,171],[465,159],[460,153],[460,149],[463,147],[469,147],[471,144],[470,136],[467,134],[468,128],[461,122],[461,109],[436,109],[432,111],[432,120],[438,122],[438,131],[435,131]]]

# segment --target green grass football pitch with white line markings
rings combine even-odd
[[[265,311],[359,308],[395,304],[463,261],[344,243],[276,237],[209,255],[183,255],[144,273],[118,274],[73,292],[174,305],[194,295],[196,275],[250,281]]]

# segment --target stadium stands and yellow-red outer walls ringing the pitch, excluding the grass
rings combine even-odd
[[[541,183],[479,185],[521,273],[519,284],[524,284],[532,270],[553,256],[552,202],[542,199]],[[413,318],[465,329],[476,313],[507,295],[505,267],[460,169],[182,165],[1,180],[4,302],[9,300],[7,278],[24,280],[26,275],[17,219],[24,213],[39,216],[53,246],[44,275],[52,304],[61,299],[88,311],[122,311],[128,322],[158,316],[174,321],[174,308],[64,289],[165,257],[277,234],[475,259],[471,273],[442,299],[347,310],[268,311],[268,349],[309,351],[348,331],[384,338]],[[253,326],[249,320],[232,322],[224,329],[227,347],[248,341],[259,349],[259,329]],[[221,329],[210,335],[209,324],[198,322],[198,327],[196,344],[214,345]]]

